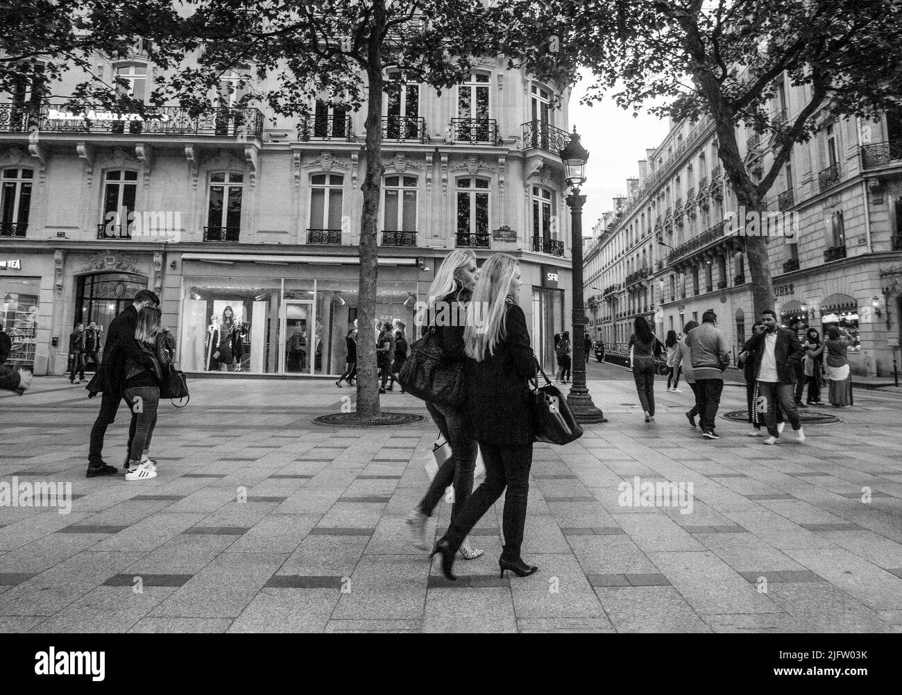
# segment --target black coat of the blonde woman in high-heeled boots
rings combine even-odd
[[[465,360],[466,416],[477,442],[510,447],[532,444],[529,380],[536,374],[536,358],[529,347],[526,315],[508,304],[507,334],[481,362]]]

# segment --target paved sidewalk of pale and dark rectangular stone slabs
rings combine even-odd
[[[38,378],[0,396],[0,489],[69,481],[74,499],[69,514],[0,507],[0,632],[902,631],[898,389],[856,392],[805,445],[767,447],[727,420],[704,440],[688,389],[662,380],[645,424],[628,372],[589,372],[609,422],[535,449],[523,555],[538,573],[499,579],[499,503],[474,533],[486,553],[450,584],[402,523],[431,423],[313,425],[354,389],[195,380],[189,407],[161,410],[158,478],[87,480],[99,399]],[[426,414],[398,393],[382,404]],[[726,387],[721,412],[744,407]],[[107,434],[116,466],[127,415]],[[636,477],[691,483],[691,513],[625,506]]]

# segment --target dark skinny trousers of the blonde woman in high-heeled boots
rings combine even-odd
[[[506,488],[502,520],[504,531],[502,559],[514,562],[520,559],[523,528],[526,526],[532,444],[511,447],[480,444],[479,448],[485,462],[485,482],[474,490],[465,508],[452,521],[445,537],[456,552],[466,535],[476,526],[476,522],[492,508]]]

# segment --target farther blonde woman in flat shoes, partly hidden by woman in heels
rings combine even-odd
[[[429,286],[427,305],[420,313],[418,325],[426,331],[434,327],[447,365],[465,361],[464,327],[466,305],[476,284],[478,270],[476,255],[463,249],[451,251],[438,267],[436,278]],[[445,319],[441,319],[444,316]],[[438,320],[437,320],[438,317]],[[438,501],[449,485],[454,485],[454,501],[451,521],[459,518],[470,494],[476,467],[477,444],[473,430],[463,409],[426,402],[426,409],[438,427],[438,431],[451,445],[451,455],[438,468],[436,477],[426,494],[407,517],[410,541],[420,550],[428,550],[426,521],[432,516]],[[464,538],[458,548],[465,560],[474,560],[483,554]]]

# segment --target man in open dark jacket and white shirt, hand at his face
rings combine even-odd
[[[763,333],[753,335],[750,348],[755,365],[757,389],[755,403],[764,408],[764,422],[768,425],[768,438],[764,444],[780,444],[777,427],[777,407],[783,411],[796,432],[796,441],[805,442],[805,432],[796,408],[796,362],[802,359],[802,343],[796,332],[777,324],[773,309],[761,312]],[[763,398],[763,401],[761,400]]]

